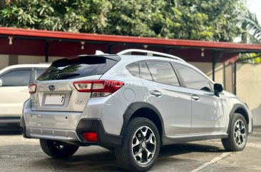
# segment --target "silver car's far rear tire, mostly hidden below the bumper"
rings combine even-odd
[[[79,146],[63,143],[61,141],[40,139],[41,149],[53,158],[68,158],[73,156]]]

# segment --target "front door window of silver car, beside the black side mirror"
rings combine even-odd
[[[203,91],[211,91],[210,84],[208,79],[205,76],[199,74],[197,71],[180,64],[176,64],[180,75],[182,76],[185,85],[188,88],[203,90]]]

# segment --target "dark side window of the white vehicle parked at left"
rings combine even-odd
[[[2,86],[27,86],[30,76],[31,70],[9,71],[1,76]]]

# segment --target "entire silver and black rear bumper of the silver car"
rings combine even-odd
[[[29,100],[24,103],[23,116],[20,121],[21,132],[25,138],[66,141],[85,146],[121,146],[122,136],[107,133],[101,119],[79,119],[80,116],[81,113],[31,111]],[[82,136],[85,132],[97,133],[97,142],[87,142]]]

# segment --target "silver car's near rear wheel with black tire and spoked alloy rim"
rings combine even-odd
[[[133,118],[123,135],[122,146],[115,148],[118,163],[127,171],[148,171],[159,152],[160,135],[148,118]]]

